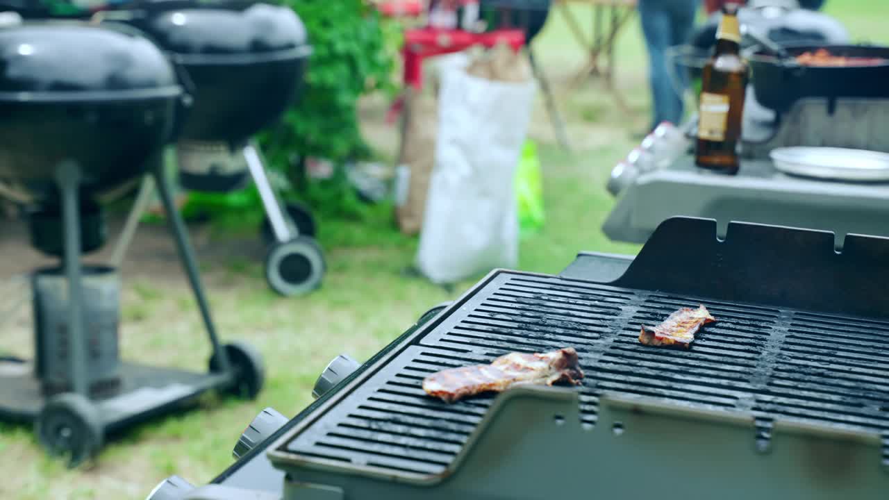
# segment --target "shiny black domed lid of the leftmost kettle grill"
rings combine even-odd
[[[0,29],[0,101],[133,91],[180,92],[164,53],[134,31],[60,21]]]

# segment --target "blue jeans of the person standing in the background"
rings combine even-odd
[[[692,37],[694,15],[700,0],[639,0],[639,18],[648,48],[648,79],[652,86],[652,128],[663,121],[679,124],[683,117],[682,96],[670,81],[667,47],[685,44]],[[685,71],[676,68],[685,83]]]

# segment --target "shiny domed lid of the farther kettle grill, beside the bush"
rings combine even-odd
[[[288,8],[267,4],[254,4],[243,11],[172,10],[157,14],[144,28],[186,63],[221,54],[308,53],[306,28],[300,18]],[[197,54],[204,58],[195,57]]]

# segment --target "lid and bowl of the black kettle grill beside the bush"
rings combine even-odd
[[[127,20],[148,34],[193,85],[181,140],[239,144],[296,97],[308,55],[292,10],[268,4],[154,2]]]

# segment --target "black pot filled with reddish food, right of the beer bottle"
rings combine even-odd
[[[881,58],[885,63],[872,66],[815,67],[782,64],[757,52],[749,58],[752,85],[757,101],[769,109],[784,111],[805,97],[889,98],[889,47],[867,45],[805,45],[789,47],[796,57],[804,52],[827,49],[844,57]]]

